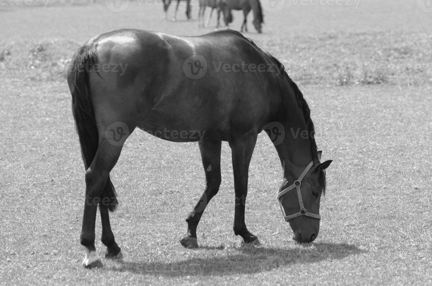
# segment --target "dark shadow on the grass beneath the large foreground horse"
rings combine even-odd
[[[285,265],[342,259],[349,255],[366,252],[346,243],[315,243],[314,246],[314,248],[305,246],[295,249],[263,246],[242,247],[240,249],[241,254],[237,252],[235,255],[191,258],[186,261],[171,263],[119,261],[111,270],[166,277],[253,274]]]

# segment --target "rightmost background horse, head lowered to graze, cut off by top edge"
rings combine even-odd
[[[263,11],[261,8],[260,0],[222,0],[224,5],[224,20],[225,24],[228,26],[232,22],[231,10],[243,10],[243,24],[241,25],[240,31],[243,33],[243,28],[248,31],[248,26],[246,25],[246,19],[249,12],[254,12],[254,21],[252,22],[257,29],[258,33],[262,32],[261,24],[264,23]]]

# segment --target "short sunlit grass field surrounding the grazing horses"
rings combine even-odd
[[[420,2],[361,0],[354,9],[286,0],[270,12],[262,1],[263,34],[249,16],[245,35],[299,84],[323,161],[334,160],[313,243],[291,240],[275,199],[279,158],[261,133],[246,223],[262,246],[242,246],[232,231],[231,152],[224,143],[222,185],[197,230],[201,247],[184,249],[184,219],[204,187],[197,144],[136,131],[111,173],[120,201],[111,222],[124,260],[102,259],[97,270],[80,264],[84,168],[64,78],[68,59],[105,31],[197,35],[212,31],[215,20],[198,28],[196,3],[194,20],[185,20],[182,5],[177,22],[163,20],[160,3],[149,1],[130,1],[120,13],[104,1],[0,6],[0,283],[432,284],[432,13]],[[241,12],[234,17],[238,29]],[[102,255],[99,239],[96,247]]]

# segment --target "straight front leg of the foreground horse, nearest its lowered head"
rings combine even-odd
[[[232,168],[234,171],[235,211],[234,211],[234,234],[240,235],[245,243],[259,245],[260,241],[248,231],[245,223],[246,196],[248,195],[249,163],[257,134],[252,134],[237,140],[230,141],[232,150]]]

